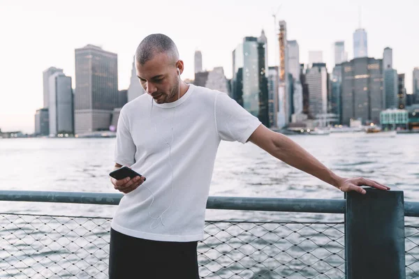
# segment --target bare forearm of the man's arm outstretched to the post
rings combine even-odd
[[[328,167],[325,167],[325,165],[320,163],[319,160],[305,151],[300,145],[293,142],[293,140],[279,133],[275,133],[272,141],[274,143],[272,152],[270,152],[272,156],[303,172],[316,176],[318,179],[332,186],[338,186],[338,182],[342,178],[328,169]]]

